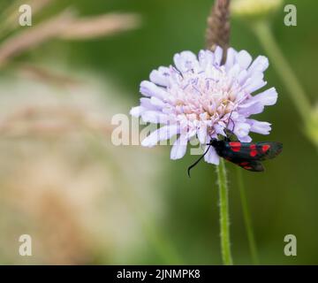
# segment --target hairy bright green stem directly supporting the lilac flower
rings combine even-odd
[[[220,197],[220,230],[221,230],[221,250],[223,264],[233,264],[231,258],[231,241],[230,241],[230,218],[229,218],[229,198],[226,180],[226,170],[223,159],[216,166],[216,174],[219,186]]]

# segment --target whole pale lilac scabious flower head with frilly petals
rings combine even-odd
[[[143,146],[153,147],[178,135],[170,152],[171,159],[178,159],[186,154],[191,139],[197,137],[206,147],[211,138],[226,135],[226,126],[240,142],[251,142],[250,132],[269,134],[268,122],[249,118],[276,103],[275,88],[252,95],[266,85],[263,72],[269,66],[268,58],[259,56],[252,62],[246,50],[232,48],[227,51],[225,64],[222,57],[219,47],[215,52],[201,50],[198,57],[184,51],[174,56],[175,66],[162,66],[150,73],[150,81],[141,82],[140,92],[145,97],[131,114],[163,125],[141,142]],[[205,160],[219,163],[213,147]]]

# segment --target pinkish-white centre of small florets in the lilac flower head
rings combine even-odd
[[[226,75],[222,66],[209,73],[183,73],[167,90],[171,95],[167,111],[179,122],[205,121],[213,126],[235,109],[239,84]]]

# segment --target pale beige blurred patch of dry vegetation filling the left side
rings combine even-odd
[[[0,82],[1,262],[122,263],[148,241],[136,206],[152,218],[161,205],[160,161],[112,146],[110,118],[125,95],[107,79],[82,73],[57,88],[26,75]],[[22,233],[33,256],[19,256]]]

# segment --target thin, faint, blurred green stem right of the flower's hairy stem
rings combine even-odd
[[[256,242],[254,238],[252,219],[250,217],[251,214],[248,209],[246,191],[245,191],[244,182],[243,182],[242,169],[238,167],[237,172],[238,172],[237,177],[238,177],[238,185],[239,185],[239,195],[240,195],[240,199],[242,203],[243,218],[244,218],[244,222],[246,226],[247,239],[248,239],[248,244],[251,251],[252,261],[254,264],[259,264]]]

